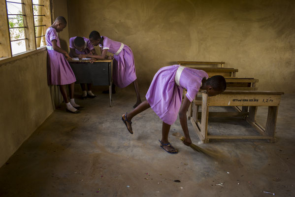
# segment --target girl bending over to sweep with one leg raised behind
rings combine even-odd
[[[187,94],[181,106],[184,88],[187,90]],[[208,74],[203,70],[180,65],[162,67],[153,78],[146,94],[147,100],[140,103],[130,113],[123,114],[122,121],[132,134],[131,119],[151,107],[163,120],[160,146],[170,154],[177,154],[175,148],[168,141],[170,126],[176,121],[179,112],[180,124],[185,136],[184,144],[190,145],[192,143],[186,112],[199,89],[206,90],[208,96],[218,95],[226,89],[225,78],[221,75],[208,78]]]

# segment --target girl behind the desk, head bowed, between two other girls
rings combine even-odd
[[[71,37],[69,38],[69,56],[71,58],[78,58],[79,55],[81,54],[89,54],[89,55],[97,55],[94,46],[91,44],[90,40],[86,37]],[[93,63],[96,59],[92,58],[90,60],[91,63]],[[96,98],[96,96],[92,93],[91,87],[92,84],[88,83],[87,84],[87,89],[88,91],[86,92],[85,84],[81,83],[81,88],[82,88],[82,99],[87,99],[88,98]]]

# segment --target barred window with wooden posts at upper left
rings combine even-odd
[[[5,16],[6,15],[6,16]],[[46,45],[51,25],[49,0],[5,0],[0,2],[0,58],[9,58]]]

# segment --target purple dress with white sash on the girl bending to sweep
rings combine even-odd
[[[187,89],[186,97],[192,102],[203,78],[208,78],[203,70],[180,65],[165,66],[155,74],[145,97],[160,119],[172,125],[177,119],[183,89]]]

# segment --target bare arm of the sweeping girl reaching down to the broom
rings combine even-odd
[[[187,123],[187,111],[190,107],[190,104],[191,101],[185,96],[179,110],[179,120],[185,137],[185,141],[183,143],[187,146],[192,143]]]

